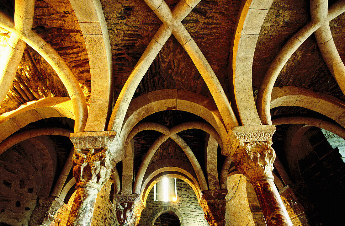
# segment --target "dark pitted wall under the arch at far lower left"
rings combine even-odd
[[[39,153],[26,141],[20,144],[0,155],[0,225],[4,226],[28,225],[42,186]]]

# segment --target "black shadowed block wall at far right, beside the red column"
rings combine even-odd
[[[311,217],[316,225],[342,225],[345,163],[339,150],[329,145],[321,129],[313,127],[305,136],[310,151],[299,159],[298,164],[314,206],[314,216]]]

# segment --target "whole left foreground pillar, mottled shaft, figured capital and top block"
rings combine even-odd
[[[76,196],[66,226],[89,226],[97,193],[109,180],[115,164],[124,158],[114,131],[79,132],[70,135],[75,147],[73,176]]]

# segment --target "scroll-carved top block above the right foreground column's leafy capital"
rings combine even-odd
[[[222,155],[232,157],[237,147],[243,147],[246,143],[265,141],[272,144],[272,136],[276,131],[274,125],[237,126],[228,132]]]

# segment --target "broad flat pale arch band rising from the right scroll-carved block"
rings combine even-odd
[[[229,90],[243,126],[261,125],[253,98],[252,67],[256,42],[273,0],[242,1],[229,58]]]

